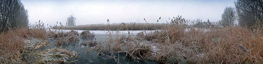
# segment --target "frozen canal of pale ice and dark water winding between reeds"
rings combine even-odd
[[[62,30],[60,30],[62,31]],[[63,30],[64,32],[65,31],[70,31],[70,30]],[[84,30],[75,30],[77,31],[79,34],[84,31]],[[135,36],[137,33],[139,32],[142,32],[143,30],[136,30],[136,31],[130,31],[130,35],[131,36]],[[81,42],[88,42],[89,40],[94,40],[94,41],[106,41],[106,39],[108,38],[108,31],[103,31],[103,30],[90,30],[90,32],[93,32],[95,34],[95,38],[94,39],[86,39],[86,38],[82,38],[82,37],[79,37],[80,38],[80,41],[77,41],[74,44],[69,44],[69,45],[63,45],[62,47],[63,48],[67,48],[68,50],[70,51],[75,51],[77,52],[77,58],[72,58],[71,60],[69,60],[69,62],[71,61],[75,61],[75,60],[78,60],[77,62],[73,62],[72,64],[85,64],[85,63],[88,63],[88,64],[116,64],[117,62],[115,62],[115,60],[113,59],[104,59],[106,58],[106,56],[102,56],[102,57],[98,57],[97,54],[98,54],[98,51],[92,51],[92,52],[86,52],[87,48],[90,48],[88,45],[87,46],[83,46],[81,45],[80,43]],[[128,31],[119,31],[119,34],[120,35],[116,35],[116,31],[110,31],[111,32],[111,36],[112,37],[116,37],[116,36],[122,36],[122,35],[128,35]],[[148,31],[146,31],[148,32]],[[107,33],[107,34],[106,34]],[[96,40],[95,40],[96,39]],[[43,47],[43,48],[39,48],[37,50],[46,50],[46,49],[49,49],[49,48],[54,48],[56,47],[54,45],[55,43],[55,40],[49,40],[49,42],[51,43],[51,45],[48,45],[46,47]],[[158,62],[156,61],[147,61],[147,60],[138,60],[139,62],[135,62],[134,60],[132,60],[131,58],[129,57],[125,57],[125,54],[120,54],[119,55],[119,58],[120,58],[120,63],[121,64],[157,64]]]

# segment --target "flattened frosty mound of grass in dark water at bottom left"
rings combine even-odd
[[[66,48],[52,48],[47,49],[45,51],[39,51],[36,53],[38,55],[35,58],[37,64],[58,64],[58,63],[68,63],[68,60],[74,57],[77,57],[77,53],[75,51],[68,51]]]

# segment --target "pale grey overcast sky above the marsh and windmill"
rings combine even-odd
[[[234,7],[235,0],[22,0],[28,10],[29,23],[39,20],[49,25],[66,25],[71,10],[76,25],[121,22],[166,23],[169,18],[219,21],[226,7]],[[139,21],[136,21],[139,20]]]

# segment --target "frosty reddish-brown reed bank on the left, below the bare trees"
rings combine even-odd
[[[45,38],[46,30],[41,23],[29,27],[13,28],[1,32],[0,36],[0,63],[21,64],[22,54],[30,48],[39,48],[48,45]],[[36,39],[36,40],[32,40]]]

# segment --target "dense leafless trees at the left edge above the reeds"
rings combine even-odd
[[[28,26],[28,11],[20,0],[0,0],[1,30],[7,27]]]

